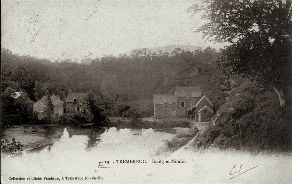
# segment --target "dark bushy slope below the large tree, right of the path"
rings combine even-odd
[[[291,151],[291,106],[279,107],[276,94],[248,82],[234,87],[228,97],[211,128],[197,138],[197,146]]]

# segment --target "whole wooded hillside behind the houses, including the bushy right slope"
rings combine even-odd
[[[200,86],[214,105],[214,116],[211,128],[198,137],[198,147],[291,151],[291,106],[280,108],[274,91],[254,87],[247,79],[224,77],[214,63],[218,55],[208,49],[197,51],[191,60],[181,59],[180,53],[172,58],[161,56],[155,62],[141,58],[82,65],[50,63],[1,49],[1,123],[32,121],[30,104],[38,98],[38,82],[43,85],[41,90],[50,88],[63,101],[69,89],[93,91],[108,117],[150,117],[153,94],[173,94],[175,86]],[[25,91],[25,101],[7,105],[11,90]],[[14,111],[17,113],[11,114]]]

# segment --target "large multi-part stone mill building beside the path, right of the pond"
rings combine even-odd
[[[174,95],[153,95],[154,117],[186,117],[210,121],[213,104],[200,87],[176,86]]]

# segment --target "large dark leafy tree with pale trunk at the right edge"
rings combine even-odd
[[[203,11],[197,29],[216,42],[229,42],[218,68],[273,88],[281,107],[291,103],[291,1],[204,1],[187,12]]]

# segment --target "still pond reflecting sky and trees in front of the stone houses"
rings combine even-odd
[[[187,128],[186,128],[187,129]],[[80,128],[55,126],[14,126],[4,130],[1,140],[24,144],[24,154],[58,155],[64,151],[95,152],[106,155],[153,153],[175,136],[174,129]]]

